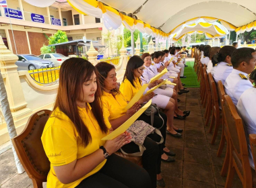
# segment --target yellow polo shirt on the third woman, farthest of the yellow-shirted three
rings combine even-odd
[[[134,83],[135,87],[131,85],[128,79],[125,79],[120,85],[120,91],[125,96],[127,101],[131,101],[133,96],[141,89],[141,83],[139,82],[139,78],[135,79]]]

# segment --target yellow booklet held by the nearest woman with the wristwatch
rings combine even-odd
[[[141,107],[141,109],[139,109],[133,116],[131,116],[131,118],[129,118],[125,123],[123,123],[123,125],[119,126],[119,128],[117,128],[116,130],[114,130],[101,140],[113,140],[120,134],[124,133],[131,126],[131,124],[133,124],[137,120],[137,118],[139,118],[139,116],[151,105],[151,103],[152,100],[150,99],[150,101],[148,101],[146,105],[143,105],[143,107]]]

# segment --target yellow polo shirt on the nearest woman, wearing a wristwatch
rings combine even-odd
[[[88,156],[105,144],[105,141],[102,141],[101,138],[106,136],[106,134],[102,133],[100,130],[100,126],[91,111],[92,108],[90,104],[88,103],[88,107],[86,108],[78,107],[78,109],[84,124],[87,126],[92,136],[92,142],[84,147],[84,145],[79,142],[81,138],[71,120],[65,113],[60,111],[59,108],[55,109],[47,121],[41,137],[44,151],[51,162],[51,169],[47,177],[47,187],[76,187],[83,179],[100,171],[106,163],[106,160],[102,161],[90,173],[69,184],[63,184],[57,178],[53,166],[62,166],[73,162],[73,160]],[[111,128],[106,117],[104,120],[108,129]]]

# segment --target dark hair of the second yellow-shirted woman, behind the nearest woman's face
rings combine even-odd
[[[98,81],[100,83],[100,89],[101,91],[104,91],[104,88],[106,87],[104,84],[104,81],[106,77],[108,77],[109,71],[111,71],[112,69],[115,69],[115,66],[107,62],[99,62],[98,64],[96,64],[95,67],[97,68],[99,73]],[[119,91],[117,91],[117,89],[111,89],[111,93],[117,94],[119,93]]]

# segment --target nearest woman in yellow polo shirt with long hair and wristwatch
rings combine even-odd
[[[97,84],[96,68],[87,60],[69,58],[61,65],[57,99],[41,138],[51,162],[47,187],[150,187],[144,169],[114,154],[130,142],[127,132],[101,140],[111,125]]]

